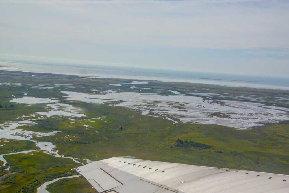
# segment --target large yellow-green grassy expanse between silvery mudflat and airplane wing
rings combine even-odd
[[[85,108],[95,109],[106,118],[93,123],[75,121],[69,127],[66,126],[69,121],[62,120],[58,122],[62,132],[34,139],[52,141],[66,156],[91,160],[129,155],[138,159],[289,174],[288,122],[251,130],[205,124],[174,125],[169,120],[121,107],[86,105]],[[80,124],[90,124],[91,127],[81,127]],[[66,135],[74,137],[63,137]],[[212,148],[175,147],[178,138],[191,139]]]

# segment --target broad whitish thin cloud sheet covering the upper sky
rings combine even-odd
[[[54,38],[63,43],[91,41],[144,47],[289,48],[289,3],[277,1],[262,3],[266,6],[252,1],[10,3],[17,6],[8,6],[7,12],[13,15],[2,15],[1,24],[28,28],[31,36],[27,34],[26,38],[40,41],[45,38],[51,42]],[[9,33],[2,35],[7,37]]]

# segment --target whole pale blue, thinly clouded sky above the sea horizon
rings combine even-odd
[[[289,78],[289,1],[0,0],[0,60]]]

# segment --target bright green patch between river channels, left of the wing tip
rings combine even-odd
[[[37,151],[4,157],[10,171],[16,173],[3,179],[0,192],[36,192],[36,188],[46,181],[75,175],[76,172],[71,172],[70,169],[79,166],[71,159]]]

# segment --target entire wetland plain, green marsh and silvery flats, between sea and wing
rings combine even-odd
[[[288,102],[287,90],[0,71],[0,191],[37,192],[124,155],[289,174]],[[90,187],[48,188],[71,185]]]

